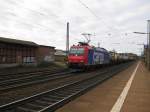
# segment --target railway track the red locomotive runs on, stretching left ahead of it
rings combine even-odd
[[[0,81],[0,91],[6,91],[18,87],[29,86],[32,84],[42,83],[46,81],[52,81],[60,78],[71,77],[73,74],[79,72],[79,70],[65,70],[61,72],[57,72],[54,74],[50,74],[49,72],[36,72],[29,73],[29,75],[25,77],[19,77],[9,80]]]

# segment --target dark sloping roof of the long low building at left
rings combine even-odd
[[[12,43],[12,44],[20,44],[20,45],[26,45],[26,46],[38,46],[38,44],[36,44],[34,42],[31,42],[31,41],[10,39],[10,38],[4,38],[4,37],[0,37],[0,42]]]

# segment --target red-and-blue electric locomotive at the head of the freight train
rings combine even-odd
[[[100,47],[90,46],[88,43],[79,42],[70,48],[68,65],[71,68],[83,68],[110,63],[109,52]]]

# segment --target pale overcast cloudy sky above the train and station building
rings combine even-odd
[[[0,36],[65,49],[66,23],[70,45],[84,41],[118,52],[140,54],[150,19],[149,0],[0,0]]]

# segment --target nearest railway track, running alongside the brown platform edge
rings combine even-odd
[[[76,81],[0,106],[0,112],[53,112],[70,100],[124,70],[128,64],[113,67],[87,79]]]

